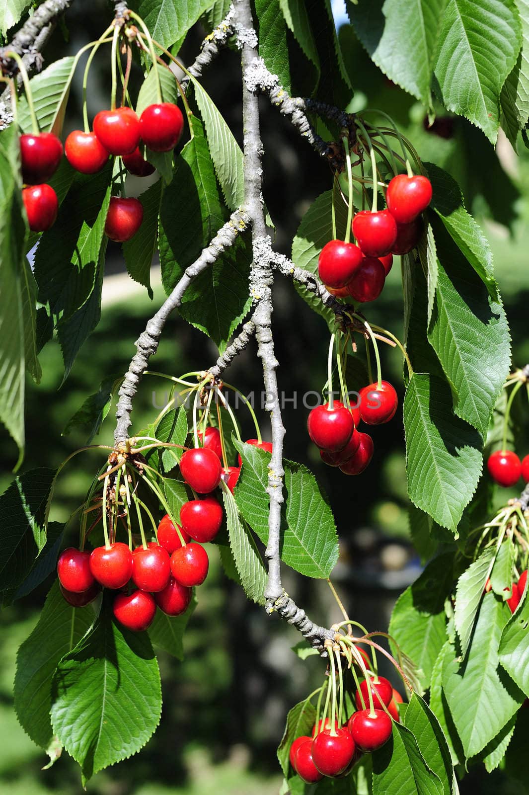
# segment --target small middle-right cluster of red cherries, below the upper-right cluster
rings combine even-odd
[[[369,433],[357,431],[365,425],[382,425],[395,416],[398,398],[388,381],[364,386],[356,403],[349,408],[341,401],[318,405],[307,419],[311,440],[319,447],[322,461],[340,467],[345,475],[360,475],[373,458],[373,439]]]

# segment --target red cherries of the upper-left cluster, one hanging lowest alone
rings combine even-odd
[[[173,103],[149,105],[138,118],[130,107],[99,111],[94,131],[74,130],[64,143],[64,152],[74,169],[95,174],[110,155],[122,157],[131,174],[148,176],[153,166],[143,157],[143,142],[153,152],[175,148],[183,131],[183,115]],[[59,203],[47,180],[56,172],[63,156],[63,145],[53,133],[24,134],[20,138],[22,200],[29,228],[43,232],[55,222]],[[105,234],[116,242],[125,242],[136,234],[143,220],[141,202],[125,196],[112,196],[106,215]]]

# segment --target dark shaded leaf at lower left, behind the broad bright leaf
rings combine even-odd
[[[56,580],[37,626],[18,650],[14,708],[21,727],[42,748],[48,747],[53,736],[49,711],[56,667],[93,621],[93,608],[71,607],[63,599]]]

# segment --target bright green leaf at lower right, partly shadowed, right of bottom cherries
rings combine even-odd
[[[466,758],[479,754],[496,737],[524,699],[498,661],[508,615],[507,605],[485,594],[465,662],[445,660],[443,690]]]

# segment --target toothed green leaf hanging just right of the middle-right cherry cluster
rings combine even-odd
[[[407,488],[411,502],[458,534],[458,523],[481,475],[481,440],[454,417],[450,390],[415,373],[404,397]]]

